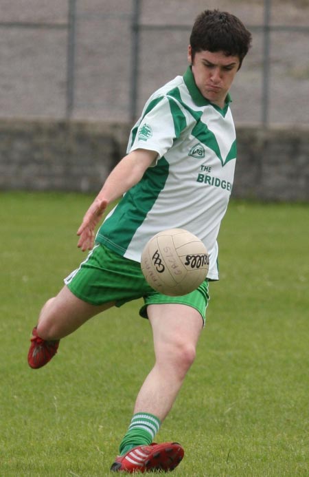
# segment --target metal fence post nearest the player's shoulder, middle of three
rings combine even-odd
[[[132,14],[132,48],[131,48],[131,72],[130,72],[130,120],[135,121],[137,116],[137,92],[139,75],[139,17],[141,13],[141,0],[133,0]]]

